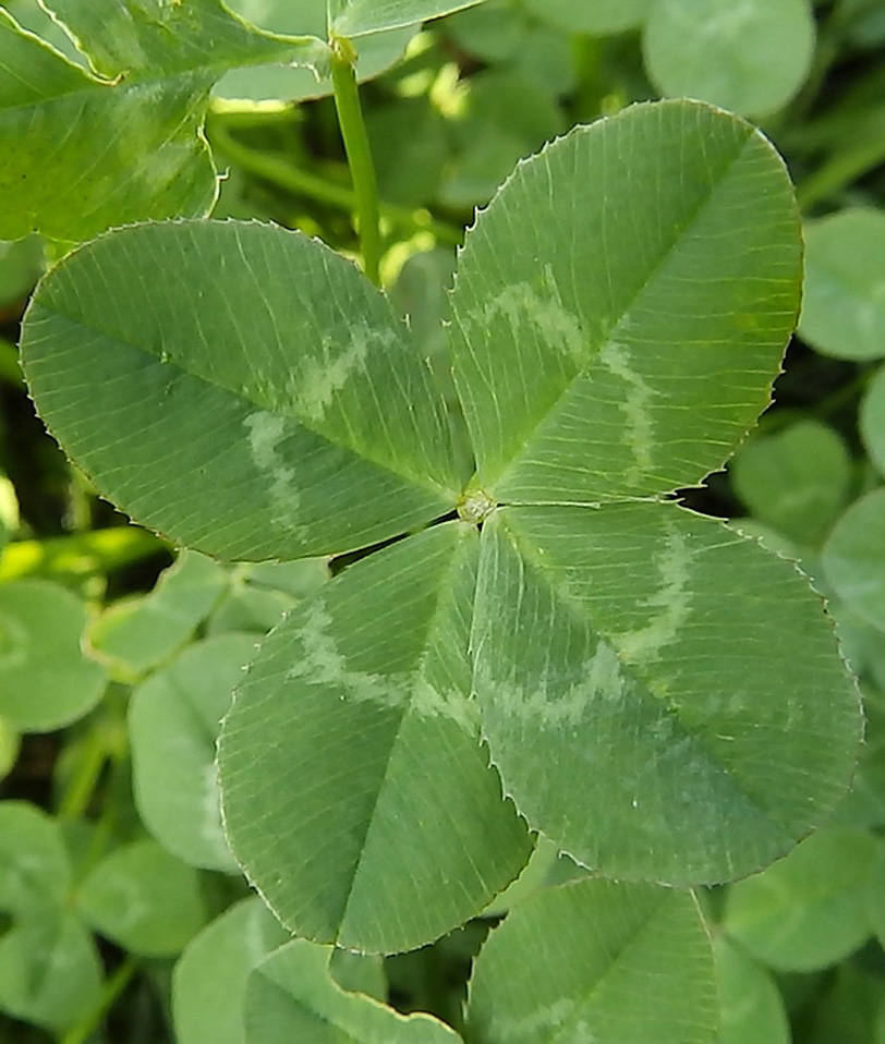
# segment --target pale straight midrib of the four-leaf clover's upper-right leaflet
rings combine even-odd
[[[520,463],[525,458],[525,454],[529,452],[530,442],[537,435],[540,428],[546,424],[546,422],[556,414],[556,412],[562,405],[566,396],[569,390],[581,379],[584,379],[589,376],[592,368],[596,365],[599,355],[603,349],[611,342],[611,340],[617,336],[618,331],[622,326],[630,319],[631,311],[635,305],[639,298],[648,289],[656,276],[660,272],[664,265],[669,257],[672,256],[674,251],[679,246],[679,244],[684,240],[686,235],[691,231],[692,227],[700,220],[703,216],[704,210],[710,205],[714,198],[716,191],[719,185],[727,179],[735,163],[743,155],[744,149],[747,148],[748,143],[753,139],[754,131],[752,128],[748,126],[745,136],[740,142],[739,147],[732,156],[730,156],[716,171],[715,175],[711,178],[711,183],[706,194],[700,199],[696,207],[690,211],[684,221],[674,230],[672,236],[664,244],[660,253],[657,257],[653,258],[648,271],[645,278],[639,282],[633,292],[630,294],[629,300],[626,302],[618,315],[613,315],[609,318],[608,326],[598,337],[598,341],[595,345],[595,351],[592,356],[590,356],[586,362],[571,376],[562,386],[559,394],[556,398],[556,401],[548,406],[543,414],[540,414],[533,422],[529,430],[524,434],[521,439],[521,449],[510,458],[510,460],[505,461],[500,464],[498,473],[494,477],[489,477],[482,469],[477,469],[477,473],[481,475],[480,482],[492,493],[494,493],[495,487],[499,484],[502,484],[507,481],[509,475],[519,468]],[[574,316],[575,320],[579,323],[582,331],[584,329],[584,324],[580,315]],[[471,354],[473,354],[473,349],[471,348]],[[666,490],[660,490],[665,493]]]

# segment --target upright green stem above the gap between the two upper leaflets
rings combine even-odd
[[[381,232],[378,211],[378,184],[372,149],[368,144],[363,110],[360,106],[360,89],[356,85],[356,52],[350,40],[335,38],[331,41],[331,73],[335,88],[335,108],[344,151],[348,154],[353,190],[356,194],[356,219],[360,226],[360,248],[366,276],[380,284]]]

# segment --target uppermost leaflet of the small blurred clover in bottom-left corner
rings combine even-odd
[[[70,885],[58,824],[29,802],[0,802],[0,911],[22,914],[58,906]]]

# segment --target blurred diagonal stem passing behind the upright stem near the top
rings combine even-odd
[[[268,153],[259,151],[243,145],[227,130],[223,122],[217,117],[209,123],[209,134],[213,143],[222,151],[232,163],[242,170],[264,181],[269,181],[287,192],[307,196],[318,203],[337,207],[341,210],[356,209],[356,194],[344,185],[336,185],[310,171],[293,167],[288,160]],[[460,229],[445,221],[432,217],[426,210],[410,210],[408,207],[398,207],[390,203],[378,204],[380,215],[395,224],[410,231],[431,232],[440,243],[457,246],[463,239]]]

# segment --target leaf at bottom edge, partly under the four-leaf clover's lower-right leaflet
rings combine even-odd
[[[584,881],[528,899],[476,959],[470,1040],[712,1044],[713,954],[690,893]]]

